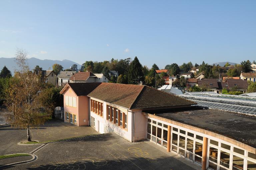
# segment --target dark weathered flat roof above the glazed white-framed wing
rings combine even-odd
[[[143,112],[218,133],[256,148],[255,116],[204,109],[198,106],[187,109],[145,110]]]

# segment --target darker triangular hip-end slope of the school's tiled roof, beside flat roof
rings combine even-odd
[[[179,96],[145,86],[131,109],[170,108],[197,104]]]

